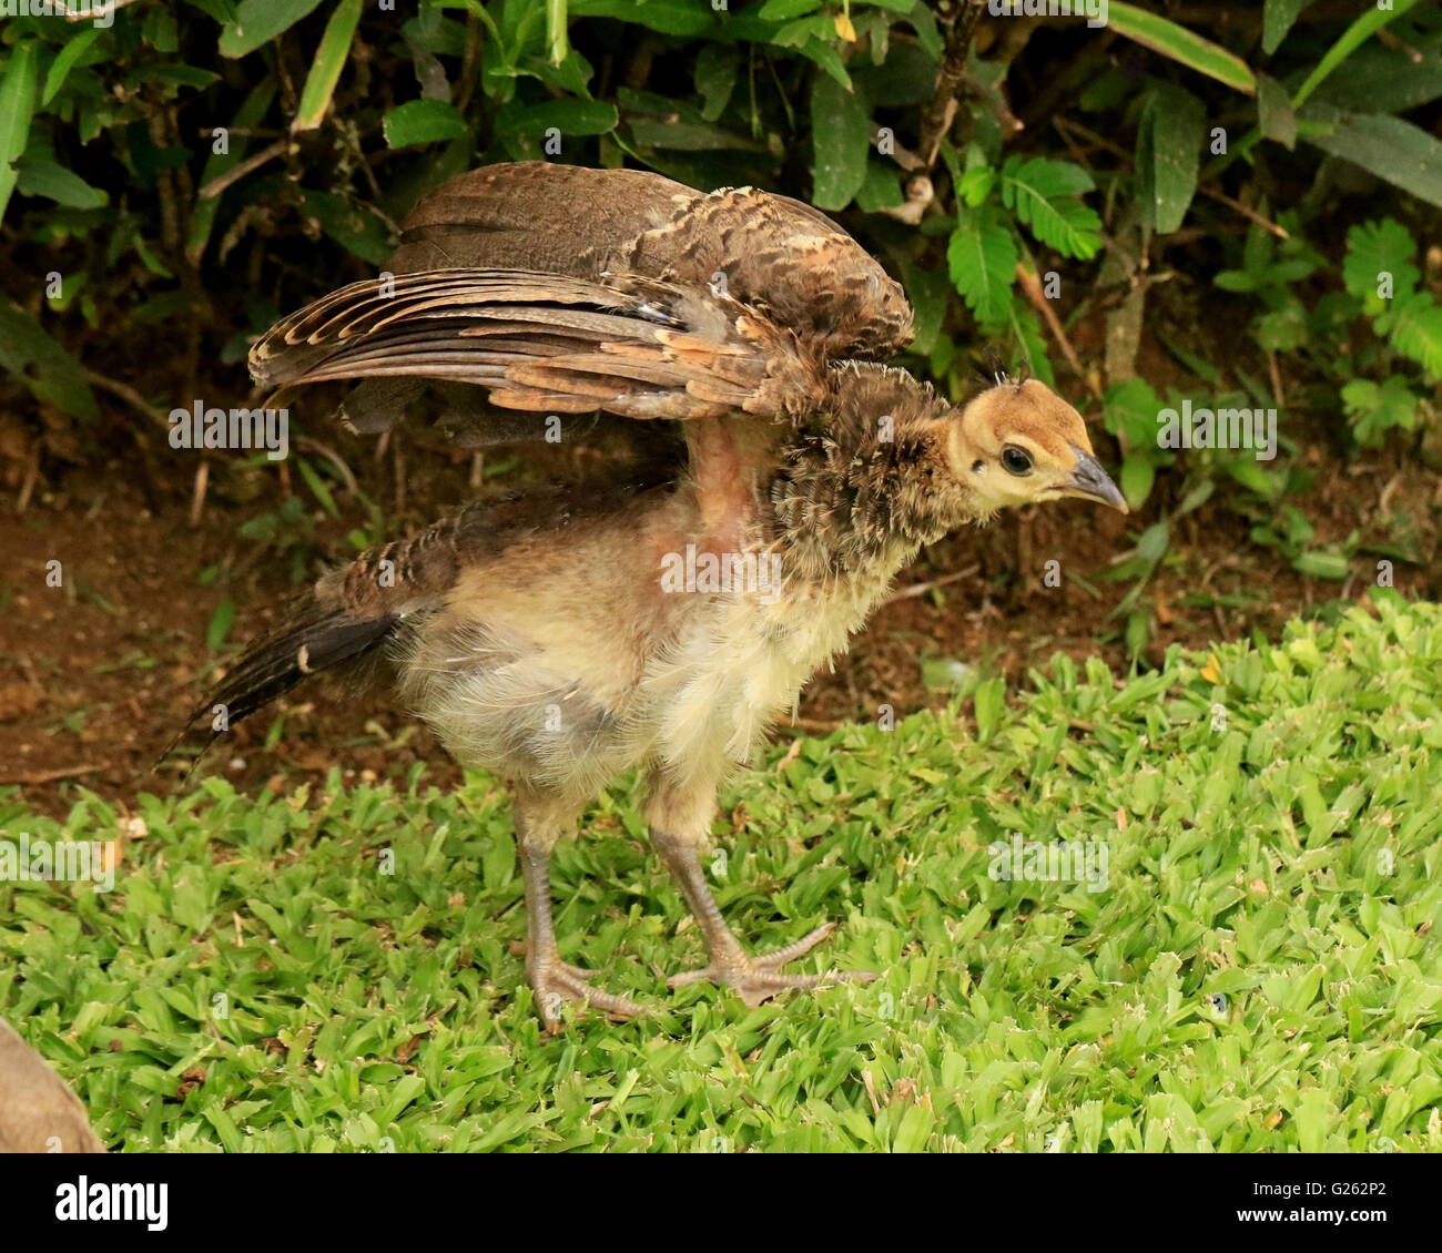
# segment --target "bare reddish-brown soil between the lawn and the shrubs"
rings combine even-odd
[[[115,421],[136,422],[114,404]],[[345,435],[333,447],[355,467],[362,489],[392,510],[391,457],[378,464],[362,441]],[[296,590],[288,558],[238,533],[244,521],[275,508],[286,495],[284,480],[262,471],[270,477],[257,486],[252,471],[232,473],[218,461],[202,522],[192,526],[195,463],[182,459],[193,456],[167,457],[162,470],[147,457],[146,474],[130,466],[52,469],[35,480],[23,512],[17,476],[0,482],[0,786],[17,786],[40,812],[63,816],[81,789],[128,806],[141,792],[182,787],[185,758],[154,773],[151,766],[215,666],[234,656],[206,649],[216,606],[225,598],[236,603],[229,640],[238,643],[268,626]],[[407,450],[407,503],[394,509],[397,532],[467,495],[460,461],[456,453]],[[1423,552],[1436,551],[1442,493],[1435,471],[1405,451],[1363,463],[1318,453],[1314,461],[1317,483],[1293,503],[1309,516],[1318,539],[1340,541],[1358,529],[1364,544],[1384,542],[1400,525],[1412,528]],[[314,503],[298,479],[294,487],[307,506]],[[313,510],[313,551],[301,561],[311,574],[326,555],[352,552],[345,535],[363,512],[349,493],[339,493],[337,503],[340,522]],[[985,660],[1009,681],[1024,681],[1028,668],[1054,652],[1097,655],[1125,673],[1122,623],[1107,614],[1126,584],[1103,575],[1131,548],[1128,536],[1159,516],[1151,503],[1141,516],[1122,518],[1077,502],[949,536],[901,577],[898,591],[972,567],[975,572],[884,606],[835,672],[812,682],[796,727],[816,732],[844,720],[874,720],[883,704],[898,714],[943,705],[947,694],[921,682],[920,660],[927,656]],[[1252,632],[1275,637],[1288,617],[1338,597],[1360,600],[1374,581],[1376,558],[1366,555],[1354,559],[1347,584],[1298,575],[1280,554],[1253,545],[1246,523],[1216,503],[1184,519],[1175,541],[1175,558],[1146,591],[1155,617],[1144,663],[1158,662],[1172,642],[1203,646]],[[1043,564],[1051,558],[1100,595],[1093,598],[1070,580],[1045,587]],[[46,585],[52,559],[63,565],[59,588]],[[202,585],[199,572],[212,565],[221,574]],[[1430,561],[1399,562],[1396,584],[1406,595],[1442,595]],[[1188,593],[1243,603],[1187,607]],[[319,782],[336,766],[348,780],[404,779],[423,760],[428,780],[459,779],[428,731],[381,695],[355,698],[319,683],[297,689],[278,708],[286,714],[284,737],[274,748],[264,747],[271,718],[262,714],[236,727],[226,747],[212,750],[202,771],[224,774],[242,790],[284,789]]]

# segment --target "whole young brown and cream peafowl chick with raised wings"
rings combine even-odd
[[[564,998],[639,1008],[561,962],[547,878],[554,842],[630,769],[711,950],[679,982],[751,1004],[815,985],[780,966],[829,927],[748,957],[715,908],[698,849],[717,786],[921,544],[1032,499],[1120,505],[1080,418],[1009,381],[957,412],[867,360],[910,335],[901,290],[815,209],[750,189],[495,166],[423,200],[394,267],[274,327],[257,378],[358,379],[360,430],[408,408],[469,444],[590,440],[604,421],[629,456],[332,571],[205,709],[234,721],[379,660],[459,761],[510,784],[551,1025]]]

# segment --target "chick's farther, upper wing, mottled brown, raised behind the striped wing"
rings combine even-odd
[[[405,219],[395,273],[456,265],[724,287],[828,360],[911,340],[901,287],[825,213],[754,187],[702,193],[645,170],[483,166]]]

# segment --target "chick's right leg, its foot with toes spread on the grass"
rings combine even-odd
[[[647,818],[650,819],[650,842],[666,864],[676,887],[686,898],[701,934],[707,942],[709,962],[699,970],[685,970],[666,980],[668,988],[684,988],[702,979],[733,988],[747,1005],[760,1005],[779,992],[792,988],[815,988],[828,980],[870,982],[877,976],[857,970],[831,975],[786,975],[782,966],[810,952],[835,929],[835,923],[822,923],[815,931],[783,949],[770,953],[747,956],[741,942],[733,934],[721,916],[705,871],[701,868],[701,845],[711,826],[715,809],[715,789],[705,793],[678,796],[665,783],[659,783],[652,796]]]

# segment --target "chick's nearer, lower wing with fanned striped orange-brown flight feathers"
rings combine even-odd
[[[825,395],[796,336],[738,301],[655,280],[428,270],[352,283],[251,349],[267,388],[420,378],[490,405],[623,418],[799,420]]]

